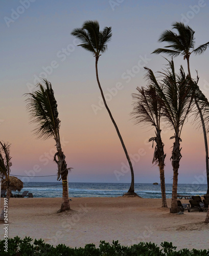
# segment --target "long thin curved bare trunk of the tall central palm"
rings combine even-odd
[[[125,146],[125,144],[124,144],[124,142],[123,142],[122,136],[121,136],[121,134],[120,134],[120,131],[119,131],[119,129],[118,129],[118,126],[117,126],[117,124],[115,123],[115,121],[114,121],[114,119],[113,119],[113,116],[112,116],[112,114],[111,114],[111,112],[110,112],[110,110],[109,110],[109,108],[108,108],[108,106],[107,106],[107,103],[106,103],[106,100],[105,100],[105,97],[104,97],[104,93],[103,93],[102,87],[101,87],[101,85],[100,85],[99,76],[98,76],[98,60],[99,60],[99,56],[96,56],[96,65],[95,65],[95,66],[96,66],[96,76],[97,76],[98,86],[99,86],[99,89],[100,89],[100,92],[101,92],[101,95],[102,95],[102,99],[103,99],[103,101],[104,101],[105,108],[106,108],[106,110],[107,110],[107,112],[108,112],[108,114],[109,114],[109,116],[110,116],[110,118],[111,118],[111,121],[112,121],[112,123],[113,123],[113,125],[114,125],[114,127],[115,127],[115,130],[116,130],[116,132],[117,132],[117,134],[118,134],[118,136],[119,136],[119,139],[120,139],[121,144],[122,144],[122,146],[123,146],[123,149],[124,149],[124,152],[125,152],[125,154],[126,154],[126,158],[127,158],[127,160],[128,160],[128,163],[129,163],[129,166],[130,166],[130,170],[131,170],[131,185],[130,185],[130,188],[129,188],[129,190],[128,190],[128,194],[129,194],[129,195],[132,194],[132,195],[136,196],[136,194],[134,193],[134,173],[133,173],[133,166],[132,166],[130,157],[129,157],[129,155],[128,155],[128,152],[127,152],[127,150],[126,150],[126,146]],[[128,194],[127,194],[127,195],[128,195]]]

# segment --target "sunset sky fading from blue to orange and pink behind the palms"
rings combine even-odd
[[[26,6],[27,8],[25,8]],[[122,89],[108,104],[119,125],[128,152],[137,154],[144,148],[146,155],[135,163],[136,182],[159,181],[157,166],[152,166],[153,149],[145,140],[153,135],[133,124],[131,93],[137,86],[146,86],[145,72],[138,61],[154,72],[164,68],[166,60],[151,52],[163,47],[157,40],[162,31],[171,29],[176,21],[193,28],[196,46],[209,41],[208,3],[200,1],[40,1],[22,0],[0,3],[1,62],[0,62],[0,125],[1,140],[12,143],[13,174],[26,174],[39,165],[39,174],[56,173],[56,164],[43,165],[40,157],[54,147],[53,139],[37,140],[32,135],[24,95],[33,88],[34,79],[47,75],[58,101],[61,134],[68,141],[63,148],[68,166],[74,167],[71,181],[130,182],[130,174],[118,181],[114,170],[126,162],[120,141],[106,110],[92,110],[99,105],[100,94],[95,79],[95,59],[91,53],[77,47],[71,36],[74,28],[85,20],[98,20],[101,29],[112,27],[108,51],[99,60],[99,76],[104,93],[121,83]],[[18,13],[19,12],[19,13]],[[16,14],[15,14],[16,13]],[[15,16],[16,15],[16,16]],[[11,21],[12,20],[12,21]],[[165,56],[167,57],[167,56]],[[199,86],[209,97],[209,50],[191,57],[191,73],[198,70]],[[176,70],[186,63],[174,59]],[[130,81],[128,71],[135,71]],[[44,73],[43,73],[44,72]],[[48,72],[48,73],[47,73]],[[35,80],[37,81],[37,80]],[[207,82],[208,81],[208,82]],[[203,135],[191,125],[183,129],[179,182],[192,183],[204,172]],[[172,183],[170,162],[172,141],[164,134],[167,153],[166,181]],[[149,137],[150,136],[150,137]],[[195,147],[192,141],[195,140]],[[206,180],[204,181],[204,183]]]

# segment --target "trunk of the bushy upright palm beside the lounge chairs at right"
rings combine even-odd
[[[181,159],[179,138],[176,136],[172,151],[172,166],[173,166],[173,187],[172,187],[172,199],[170,212],[174,214],[178,212],[177,205],[177,187],[178,187],[178,168],[179,161]]]

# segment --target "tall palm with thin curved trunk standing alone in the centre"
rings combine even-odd
[[[114,118],[108,108],[107,102],[104,97],[104,93],[100,84],[99,75],[98,75],[98,60],[101,56],[101,53],[104,53],[107,50],[107,43],[110,41],[112,32],[111,27],[105,27],[103,31],[100,31],[100,26],[97,21],[87,20],[84,22],[82,28],[76,28],[71,33],[73,36],[77,37],[82,44],[78,45],[83,47],[85,50],[91,52],[95,57],[95,68],[96,68],[96,77],[98,86],[102,95],[102,99],[104,101],[105,108],[111,118],[111,121],[115,127],[115,130],[117,131],[117,134],[119,136],[119,139],[121,141],[121,144],[123,146],[123,150],[126,154],[126,158],[128,160],[130,170],[131,170],[131,185],[128,190],[128,193],[126,193],[124,196],[137,196],[134,193],[134,173],[133,173],[133,166],[130,160],[130,157],[128,155],[128,152],[126,150],[126,146],[124,144],[124,141],[122,139],[121,133],[119,131],[119,128],[114,121]]]

